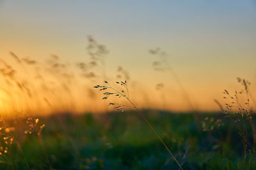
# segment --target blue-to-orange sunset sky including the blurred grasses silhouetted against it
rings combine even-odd
[[[237,77],[255,92],[255,18],[255,1],[1,0],[0,110],[106,111],[104,80],[138,108],[220,110]]]

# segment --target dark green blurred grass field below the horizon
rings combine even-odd
[[[256,167],[255,161],[244,164],[238,123],[234,124],[223,113],[200,113],[196,123],[192,113],[142,112],[183,169]],[[206,117],[223,121],[205,131],[202,122]],[[15,127],[13,136],[17,142],[1,158],[1,169],[179,169],[136,112],[63,113],[39,120],[45,124],[40,136],[24,135],[28,129],[25,120],[6,121]]]

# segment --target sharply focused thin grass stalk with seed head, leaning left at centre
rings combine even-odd
[[[108,99],[108,97],[110,95],[115,95],[120,97],[125,97],[125,99],[127,99],[127,101],[129,101],[129,103],[131,103],[131,106],[124,106],[122,104],[117,104],[117,103],[109,103],[109,105],[118,105],[115,107],[116,110],[122,110],[124,108],[133,108],[134,110],[136,110],[140,116],[145,120],[145,122],[148,124],[148,126],[150,127],[150,129],[156,134],[157,138],[161,141],[161,143],[164,145],[164,147],[166,148],[166,150],[170,153],[170,155],[172,156],[172,158],[175,160],[175,162],[178,164],[179,169],[182,169],[182,167],[180,166],[179,162],[177,159],[175,159],[174,155],[172,154],[172,152],[169,150],[169,148],[166,146],[166,144],[164,143],[163,139],[159,136],[159,134],[156,132],[156,130],[154,129],[154,127],[150,124],[150,122],[148,122],[147,118],[145,117],[145,115],[143,115],[143,113],[141,113],[141,111],[138,110],[138,108],[135,106],[134,103],[132,103],[132,101],[129,99],[129,91],[128,91],[128,87],[127,87],[127,82],[126,81],[121,81],[118,82],[116,81],[117,84],[120,84],[122,87],[125,87],[125,89],[127,90],[127,92],[125,93],[124,90],[121,90],[121,92],[119,92],[118,90],[114,89],[113,87],[111,87],[111,85],[108,83],[108,81],[105,81],[106,84],[108,84],[109,86],[100,86],[100,85],[96,85],[94,88],[100,88],[100,90],[106,90],[106,89],[111,89],[114,90],[114,93],[111,92],[105,92],[104,95],[106,95],[106,97],[103,97],[102,99]]]

